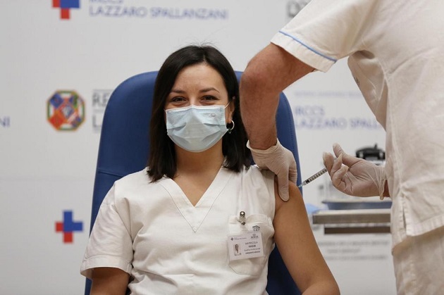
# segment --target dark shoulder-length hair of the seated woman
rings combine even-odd
[[[175,79],[183,68],[199,63],[206,63],[218,71],[228,92],[228,100],[235,103],[233,121],[235,127],[222,138],[222,152],[226,160],[223,166],[240,172],[251,163],[251,152],[247,149],[247,132],[240,118],[239,84],[235,71],[227,58],[213,46],[185,46],[173,52],[161,66],[154,84],[152,118],[149,124],[150,150],[148,174],[152,182],[162,177],[173,178],[176,172],[174,144],[166,134],[164,108],[166,98],[173,88]]]

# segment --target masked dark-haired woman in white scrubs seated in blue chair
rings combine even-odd
[[[339,294],[302,196],[250,165],[238,80],[211,46],[169,56],[156,79],[148,167],[115,182],[81,273],[91,294],[266,294],[276,245],[304,294]]]

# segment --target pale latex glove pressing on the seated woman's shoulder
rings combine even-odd
[[[296,183],[297,166],[293,153],[283,147],[279,140],[269,149],[252,149],[247,142],[247,148],[252,151],[254,163],[261,169],[271,170],[278,176],[278,192],[280,199],[288,201],[288,180]]]

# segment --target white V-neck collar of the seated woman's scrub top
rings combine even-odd
[[[183,215],[183,218],[187,220],[192,230],[197,232],[206,215],[211,210],[214,201],[216,201],[217,197],[221,194],[223,188],[226,187],[226,184],[228,184],[228,180],[230,180],[232,175],[230,170],[221,167],[216,177],[214,177],[213,182],[211,182],[208,189],[206,189],[206,192],[204,192],[196,206],[192,205],[183,190],[180,189],[179,185],[171,178],[164,178],[159,184],[161,184],[168,194],[170,194],[175,206],[180,211],[180,214]]]

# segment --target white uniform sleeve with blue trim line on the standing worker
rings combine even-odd
[[[271,39],[307,65],[326,72],[340,58],[364,50],[379,1],[312,0]]]

